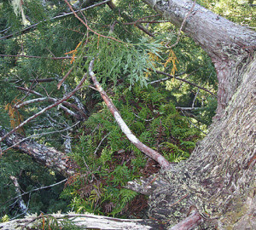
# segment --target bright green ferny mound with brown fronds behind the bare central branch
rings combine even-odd
[[[113,103],[143,143],[157,147],[171,162],[179,162],[189,157],[201,133],[190,127],[167,98],[168,91],[150,85],[142,88],[137,83],[131,90],[119,86]],[[108,108],[102,102],[98,106],[98,112],[79,130],[72,154],[83,176],[65,188],[61,198],[72,198],[70,205],[77,212],[124,216],[127,205],[137,196],[124,187],[142,175],[148,158],[126,139]]]

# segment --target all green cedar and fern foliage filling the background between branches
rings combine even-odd
[[[196,141],[203,136],[200,129],[207,132],[212,122],[215,99],[207,92],[198,92],[194,86],[175,79],[154,85],[149,83],[162,78],[156,70],[171,74],[186,72],[181,78],[216,92],[216,74],[205,52],[183,35],[176,47],[166,49],[165,43],[172,44],[177,40],[177,29],[169,23],[149,24],[148,31],[154,32],[154,38],[148,37],[136,26],[124,25],[125,22],[131,22],[127,16],[137,20],[145,15],[155,14],[142,1],[116,1],[117,9],[112,10],[103,5],[84,12],[92,30],[114,37],[121,43],[88,31],[73,15],[52,20],[56,15],[69,12],[69,9],[64,1],[44,2],[45,4],[39,0],[24,1],[22,7],[29,24],[39,24],[23,34],[20,30],[26,26],[20,16],[15,15],[12,5],[9,1],[0,3],[3,15],[0,18],[1,37],[15,34],[14,37],[0,40],[0,53],[42,57],[0,57],[0,125],[10,130],[20,123],[20,118],[29,118],[50,103],[44,101],[22,106],[18,111],[10,110],[12,101],[38,98],[37,95],[18,90],[17,86],[33,89],[43,96],[61,98],[75,88],[84,72],[88,71],[90,60],[96,57],[94,72],[134,134],[173,163],[188,158]],[[227,15],[230,12],[228,16],[231,20],[247,23],[248,26],[255,25],[255,20],[247,20],[243,16],[248,14],[248,18],[253,18],[253,10],[246,3],[243,8],[238,1],[203,1],[202,4],[217,13]],[[229,12],[224,12],[224,7],[221,7],[224,4],[232,6],[229,7]],[[234,4],[239,7],[233,8]],[[83,7],[86,7],[86,3]],[[237,10],[241,17],[236,17],[239,13]],[[82,14],[79,16],[84,19]],[[161,18],[158,16],[154,20]],[[113,23],[112,31],[110,27]],[[49,59],[65,55],[73,56],[72,61]],[[71,67],[73,72],[58,90],[56,84]],[[53,81],[37,83],[36,79],[40,78],[52,78]],[[29,210],[38,213],[75,210],[108,216],[125,216],[125,213],[125,217],[143,215],[137,204],[146,207],[147,198],[125,189],[125,184],[140,176],[157,172],[159,166],[125,138],[107,107],[102,104],[98,92],[89,88],[90,84],[88,78],[84,88],[76,94],[87,107],[90,116],[80,122],[79,126],[69,130],[69,135],[73,138],[73,152],[69,154],[78,162],[81,168],[79,174],[69,178],[64,189],[63,186],[53,187],[23,198]],[[74,103],[75,100],[71,98],[68,102]],[[192,104],[201,109],[181,112],[175,108],[189,107]],[[8,111],[5,110],[7,106]],[[29,136],[58,131],[75,122],[74,118],[55,107],[26,124],[22,133]],[[38,135],[36,140],[63,150],[64,135],[67,132]],[[3,150],[6,148],[3,143],[1,147]],[[21,152],[4,152],[0,164],[0,216],[13,217],[21,214],[16,203],[5,203],[15,197],[15,188],[9,175],[18,177],[24,192],[62,179],[60,175],[35,164]]]

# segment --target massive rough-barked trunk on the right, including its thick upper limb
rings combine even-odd
[[[193,5],[181,0],[144,2],[177,26]],[[148,187],[149,214],[172,225],[195,209],[205,227],[256,229],[256,33],[197,4],[183,32],[207,51],[216,67],[218,119],[189,160],[177,165],[177,172],[164,171],[154,180],[158,185],[165,181],[164,186]]]

